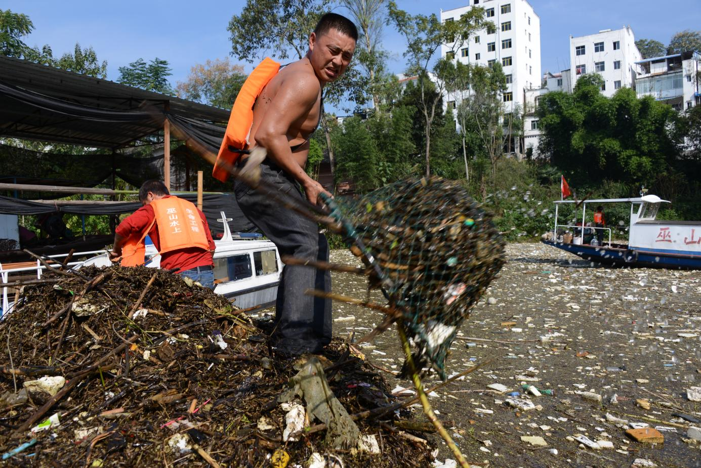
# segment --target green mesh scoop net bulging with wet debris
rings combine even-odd
[[[458,329],[504,263],[491,216],[460,184],[437,177],[336,199],[331,208],[351,251],[372,267],[369,287],[382,289],[413,340],[418,369],[430,364],[445,379]]]

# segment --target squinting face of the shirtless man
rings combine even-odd
[[[309,36],[309,61],[314,73],[324,83],[336,81],[351,63],[355,41],[338,29],[329,29],[317,36]]]

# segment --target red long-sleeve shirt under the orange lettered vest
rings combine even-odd
[[[166,195],[163,198],[168,198],[171,195]],[[215,241],[212,240],[212,233],[210,233],[210,227],[207,225],[207,219],[205,214],[199,209],[197,212],[200,214],[200,219],[202,219],[202,224],[205,228],[205,235],[207,236],[207,244],[210,246],[210,250],[214,251]],[[156,212],[154,212],[154,207],[151,205],[144,205],[137,209],[133,214],[128,216],[124,221],[119,223],[115,232],[121,235],[123,238],[128,238],[132,234],[138,234],[139,236],[144,233],[144,230],[151,224],[151,221],[156,217]],[[158,224],[154,223],[154,226],[149,230],[149,236],[154,242],[154,247],[160,252],[161,250],[161,239],[158,237]],[[170,252],[164,252],[161,254],[161,268],[164,270],[172,270],[177,268],[176,273],[180,273],[184,270],[189,270],[191,268],[196,268],[198,266],[214,266],[214,261],[212,260],[212,253],[200,249],[199,247],[186,247],[184,249],[172,250]]]

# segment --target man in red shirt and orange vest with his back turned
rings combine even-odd
[[[122,266],[144,264],[144,238],[149,235],[161,254],[161,268],[214,289],[215,242],[205,214],[191,202],[170,195],[159,180],[139,188],[142,207],[117,226],[111,259]]]

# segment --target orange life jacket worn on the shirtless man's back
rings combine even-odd
[[[222,182],[229,179],[227,167],[231,167],[241,156],[241,153],[232,151],[232,149],[247,149],[248,137],[253,124],[253,104],[265,85],[278,74],[279,70],[280,64],[270,57],[266,57],[243,83],[231,108],[229,124],[226,125],[224,140],[222,140],[222,146],[219,147],[217,161],[212,170],[212,177],[215,179]]]

